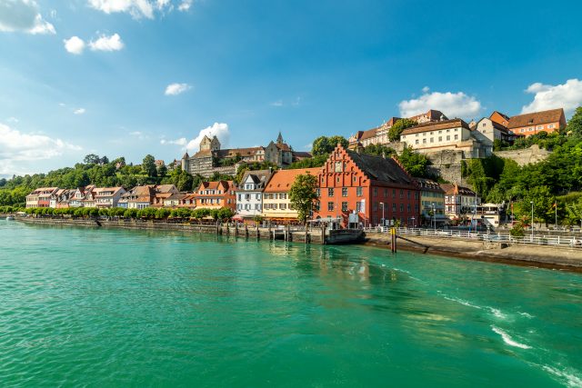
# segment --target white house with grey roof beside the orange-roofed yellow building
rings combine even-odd
[[[263,212],[263,190],[272,170],[246,171],[236,191],[236,213],[253,218]]]

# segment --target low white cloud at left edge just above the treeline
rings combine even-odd
[[[24,134],[0,124],[0,174],[14,174],[21,164],[61,156],[82,148],[45,134]]]

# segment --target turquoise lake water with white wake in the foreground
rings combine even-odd
[[[0,221],[0,385],[581,386],[582,276]]]

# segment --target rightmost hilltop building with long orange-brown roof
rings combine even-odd
[[[507,123],[507,129],[514,134],[531,136],[540,132],[552,134],[566,128],[564,109],[552,109],[531,114],[512,116]]]

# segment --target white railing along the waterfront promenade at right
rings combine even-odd
[[[367,227],[366,232],[388,234],[388,226]],[[546,235],[546,234],[526,234],[523,237],[514,237],[511,234],[483,233],[444,229],[423,229],[423,228],[396,228],[396,234],[436,236],[442,238],[462,238],[467,240],[486,241],[490,243],[507,244],[531,244],[531,245],[553,245],[562,247],[582,248],[582,236],[575,235]]]

